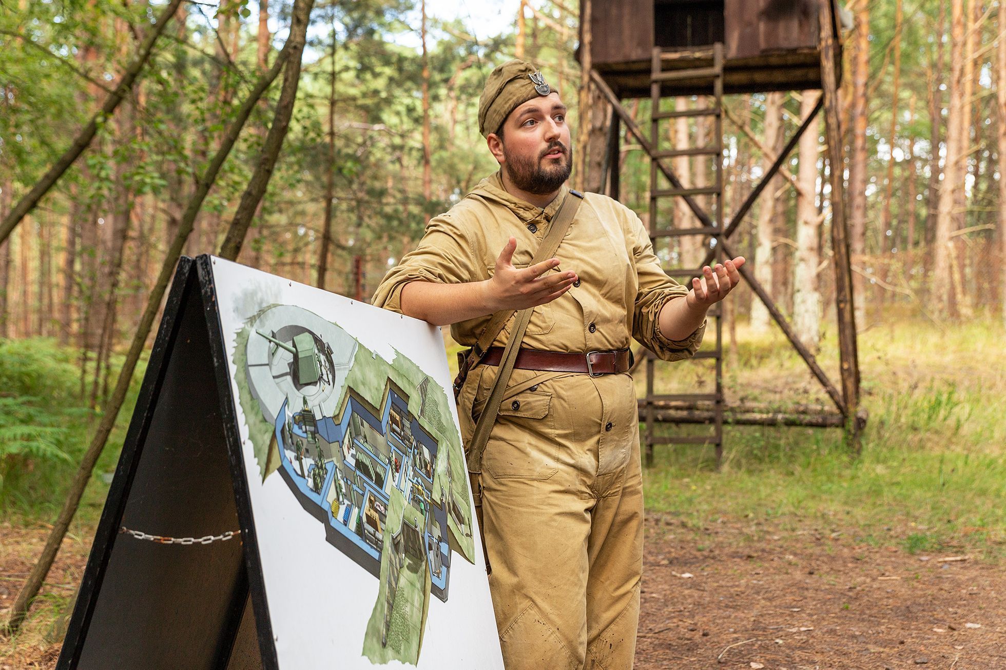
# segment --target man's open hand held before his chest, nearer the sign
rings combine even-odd
[[[510,237],[496,259],[496,270],[488,282],[488,303],[493,312],[504,309],[523,310],[544,305],[569,290],[576,273],[550,272],[559,265],[558,259],[542,261],[530,268],[514,268],[513,253],[517,240]]]

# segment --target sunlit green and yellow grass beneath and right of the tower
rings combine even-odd
[[[759,401],[785,406],[810,396],[824,403],[780,338],[740,329],[740,340],[728,397],[757,388]],[[645,475],[648,508],[699,528],[720,518],[754,519],[853,529],[866,541],[909,550],[963,546],[1000,554],[1006,349],[997,327],[902,323],[866,331],[859,348],[869,422],[858,459],[835,429],[728,427],[719,472],[708,449],[658,448]],[[834,340],[825,339],[820,358],[832,370],[834,352]],[[691,372],[664,374],[680,383]]]

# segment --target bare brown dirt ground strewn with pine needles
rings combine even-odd
[[[45,532],[0,524],[0,611]],[[40,606],[0,645],[0,670],[55,667],[51,611],[79,581],[87,543],[67,538]],[[1006,575],[977,555],[941,560],[966,555],[864,543],[855,529],[651,515],[636,668],[1006,669]]]

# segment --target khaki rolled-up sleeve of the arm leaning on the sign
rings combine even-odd
[[[401,289],[409,282],[460,284],[476,277],[464,226],[450,214],[430,219],[416,247],[381,280],[371,304],[401,314]]]

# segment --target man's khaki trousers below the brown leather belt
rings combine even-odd
[[[572,375],[532,387],[504,402],[482,461],[505,665],[631,668],[643,563],[631,378]]]

